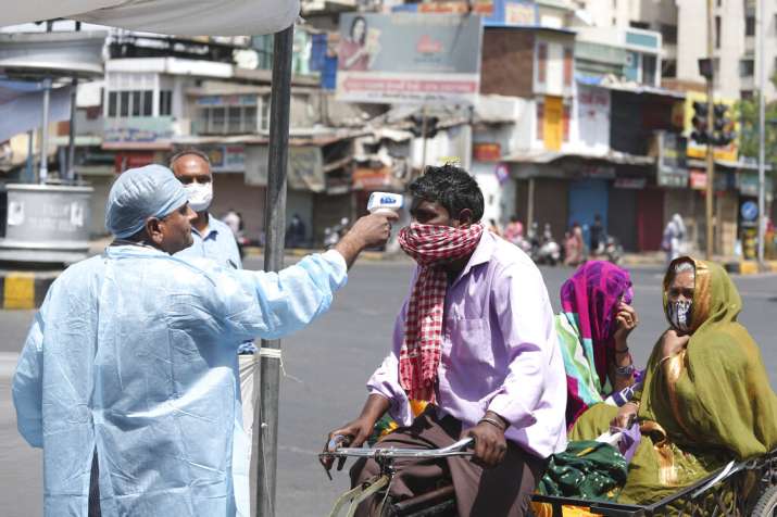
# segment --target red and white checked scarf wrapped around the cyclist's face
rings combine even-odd
[[[438,266],[475,251],[483,231],[480,225],[453,228],[414,223],[399,232],[402,250],[421,266],[408,304],[399,356],[400,384],[410,399],[435,402],[448,290],[447,274]]]

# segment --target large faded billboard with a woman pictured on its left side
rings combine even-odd
[[[477,15],[342,14],[337,98],[471,103],[480,89],[481,41]]]

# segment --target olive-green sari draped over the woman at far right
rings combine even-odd
[[[653,349],[644,383],[635,395],[642,441],[629,465],[622,503],[659,501],[731,459],[777,447],[777,395],[757,345],[737,323],[742,306],[737,288],[717,264],[693,263],[691,339],[664,361],[661,340]],[[668,275],[664,292],[667,286]],[[664,308],[666,304],[664,294]],[[569,438],[598,437],[616,414],[616,407],[592,406]]]

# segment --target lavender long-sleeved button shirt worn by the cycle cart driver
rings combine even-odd
[[[408,300],[397,317],[393,350],[367,382],[404,426],[413,420],[399,384],[406,312]],[[523,251],[484,232],[448,287],[442,335],[440,414],[467,428],[490,409],[510,423],[505,437],[526,451],[548,457],[566,449],[566,378],[553,310],[539,269]]]

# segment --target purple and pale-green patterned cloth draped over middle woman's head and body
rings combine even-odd
[[[628,272],[603,261],[587,262],[562,286],[560,317],[576,330],[576,336],[559,332],[566,369],[568,425],[606,396],[615,314],[621,301],[630,304],[632,299]]]

